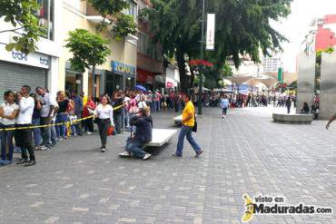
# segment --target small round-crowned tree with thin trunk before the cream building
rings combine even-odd
[[[105,63],[106,56],[111,53],[106,46],[109,43],[108,40],[105,40],[99,34],[92,34],[84,29],[69,32],[66,43],[65,47],[69,48],[69,51],[74,54],[73,58],[70,59],[72,69],[84,73],[85,68],[93,67],[93,78],[95,66]]]

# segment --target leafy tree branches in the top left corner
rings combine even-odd
[[[0,18],[13,24],[13,29],[0,30],[0,33],[15,33],[14,43],[6,44],[7,51],[20,51],[24,54],[35,52],[39,36],[44,34],[44,28],[38,24],[35,12],[38,9],[35,0],[0,1]]]

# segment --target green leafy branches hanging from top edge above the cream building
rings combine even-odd
[[[116,40],[122,40],[128,34],[136,34],[136,24],[132,15],[124,15],[124,10],[130,5],[124,0],[89,0],[94,9],[103,16],[103,21],[97,24],[97,32],[112,25],[111,32]],[[113,16],[108,19],[107,16]]]

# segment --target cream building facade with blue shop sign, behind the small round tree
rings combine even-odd
[[[129,3],[131,7],[124,13],[133,15],[134,20],[137,20],[138,6],[135,1],[129,0]],[[82,28],[94,33],[96,24],[101,22],[103,17],[86,1],[73,0],[63,2],[62,20],[64,29],[60,35],[64,45],[70,31]],[[133,88],[136,77],[137,37],[129,35],[122,41],[116,41],[108,28],[101,35],[109,38],[108,47],[111,54],[106,57],[106,63],[96,67],[95,75],[91,69],[83,74],[73,71],[69,63],[72,54],[63,48],[59,63],[59,89],[99,96]]]

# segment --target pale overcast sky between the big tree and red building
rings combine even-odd
[[[296,56],[313,18],[336,15],[336,0],[294,0],[292,14],[282,23],[272,24],[290,43],[282,44],[284,71],[295,72]]]

